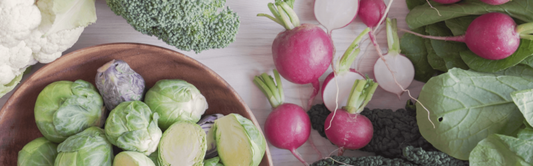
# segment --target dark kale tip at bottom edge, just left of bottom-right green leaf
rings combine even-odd
[[[441,151],[424,151],[422,148],[414,148],[412,146],[403,149],[403,158],[424,166],[464,166],[468,165],[468,161],[459,160],[448,156]]]

